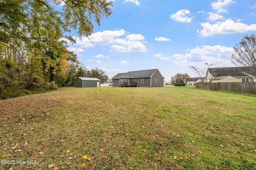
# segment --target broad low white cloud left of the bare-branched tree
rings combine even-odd
[[[233,51],[232,47],[204,45],[191,49],[185,55],[175,54],[171,57],[174,59],[173,63],[180,67],[202,67],[204,63],[216,64],[218,67],[227,67],[233,66],[230,60]]]

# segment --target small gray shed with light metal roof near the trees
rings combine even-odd
[[[100,79],[91,77],[78,77],[75,87],[100,87]]]

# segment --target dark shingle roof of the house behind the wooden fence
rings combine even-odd
[[[222,67],[222,68],[209,68],[210,73],[213,76],[233,76],[233,77],[242,77],[242,76],[256,76],[250,71],[250,67]],[[246,74],[245,74],[246,73]]]

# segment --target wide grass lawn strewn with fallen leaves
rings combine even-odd
[[[0,100],[0,121],[0,170],[256,169],[253,96],[60,88]]]

